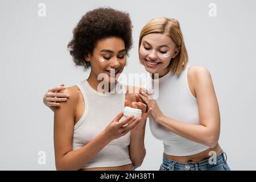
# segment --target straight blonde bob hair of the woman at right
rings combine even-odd
[[[141,35],[139,36],[139,48],[141,47],[143,36],[151,33],[169,35],[177,48],[180,48],[179,53],[176,57],[171,59],[169,65],[170,71],[179,75],[188,63],[188,52],[184,44],[180,23],[176,19],[166,17],[150,20],[150,22],[148,22],[141,30]]]

